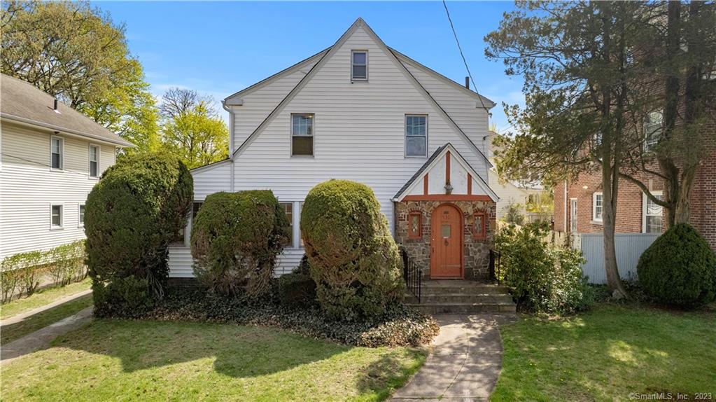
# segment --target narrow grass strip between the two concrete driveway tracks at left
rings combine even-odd
[[[63,303],[62,305],[52,307],[43,312],[38,312],[14,324],[3,325],[0,328],[0,345],[6,345],[13,340],[22,338],[31,332],[35,332],[65,317],[74,315],[74,313],[79,312],[79,310],[91,305],[92,295],[84,295],[71,302]]]

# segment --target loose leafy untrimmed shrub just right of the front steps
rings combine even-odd
[[[506,226],[495,237],[503,281],[523,310],[568,314],[594,302],[579,250],[547,244],[544,224]]]

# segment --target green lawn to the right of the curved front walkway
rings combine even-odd
[[[627,401],[630,393],[716,394],[716,313],[596,305],[500,327],[492,401]]]

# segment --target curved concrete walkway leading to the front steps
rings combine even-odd
[[[435,315],[440,335],[425,365],[392,401],[486,401],[502,368],[498,324],[513,314]]]

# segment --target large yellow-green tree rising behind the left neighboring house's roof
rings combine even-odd
[[[0,68],[139,150],[158,145],[158,112],[125,27],[87,1],[4,1]]]

